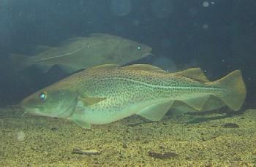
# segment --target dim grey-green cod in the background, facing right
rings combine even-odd
[[[109,34],[91,34],[61,42],[59,47],[38,47],[34,56],[12,54],[10,61],[17,71],[37,66],[47,72],[53,65],[72,73],[106,63],[124,65],[150,55],[151,47],[146,44]]]

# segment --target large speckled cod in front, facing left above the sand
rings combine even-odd
[[[132,114],[158,121],[169,109],[198,112],[226,105],[238,111],[245,97],[239,70],[210,82],[200,68],[170,73],[146,64],[109,64],[61,79],[23,99],[21,106],[30,114],[90,128]]]

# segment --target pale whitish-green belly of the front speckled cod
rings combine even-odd
[[[76,113],[77,114],[83,113],[83,114],[80,114],[78,117],[82,118],[82,120],[85,121],[86,123],[99,125],[99,124],[112,123],[114,121],[121,120],[125,117],[129,117],[132,114],[139,114],[140,116],[145,117],[144,114],[145,112],[148,112],[148,111],[158,112],[159,114],[161,114],[162,111],[158,111],[158,110],[159,110],[159,107],[162,108],[161,107],[163,106],[162,104],[167,104],[167,108],[165,107],[163,111],[163,112],[167,112],[172,102],[170,101],[169,98],[158,98],[158,99],[140,101],[137,103],[135,102],[125,103],[125,104],[122,104],[119,108],[118,108],[118,105],[113,105],[113,106],[110,106],[110,108],[107,107],[108,109],[105,109],[105,105],[101,104],[97,106],[97,104],[95,104],[92,107],[83,106],[80,108],[80,110],[81,111],[83,110],[83,112],[77,111]],[[152,120],[151,118],[148,118],[148,119]]]

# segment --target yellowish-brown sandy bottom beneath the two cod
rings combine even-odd
[[[255,109],[169,115],[157,123],[133,116],[90,130],[67,120],[21,115],[15,106],[0,109],[1,166],[256,164]],[[73,149],[94,150],[83,155]]]

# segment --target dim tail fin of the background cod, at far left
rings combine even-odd
[[[13,66],[13,69],[15,69],[16,71],[21,71],[25,69],[28,66],[26,63],[26,58],[28,58],[28,56],[26,55],[18,55],[11,53],[10,61]]]

